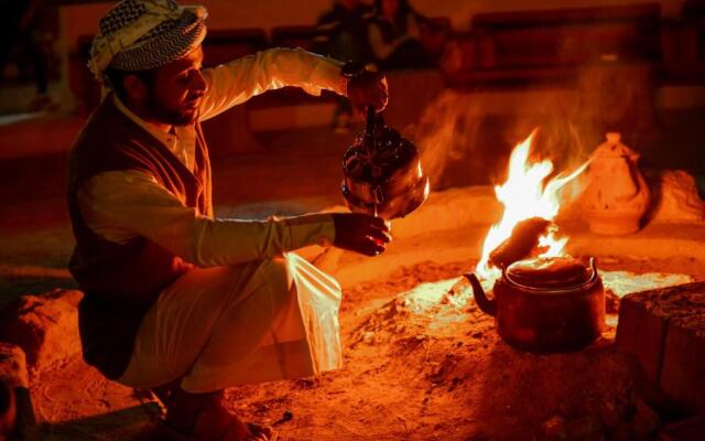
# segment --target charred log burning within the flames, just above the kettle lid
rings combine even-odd
[[[489,263],[498,268],[507,268],[517,260],[531,256],[539,246],[539,238],[545,235],[551,220],[543,217],[531,217],[519,222],[511,230],[511,236],[502,241],[489,255]]]

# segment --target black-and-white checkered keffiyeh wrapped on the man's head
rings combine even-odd
[[[100,19],[88,67],[148,71],[181,58],[206,36],[206,9],[173,0],[122,0]]]

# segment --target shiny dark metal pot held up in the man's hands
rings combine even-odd
[[[404,217],[429,196],[419,150],[384,125],[372,107],[365,130],[343,155],[343,196],[350,211],[384,219]]]

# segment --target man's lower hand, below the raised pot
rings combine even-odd
[[[384,251],[392,239],[389,227],[381,217],[362,213],[334,213],[333,224],[335,247],[366,256],[377,256]]]

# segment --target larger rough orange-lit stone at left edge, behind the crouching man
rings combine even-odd
[[[30,370],[56,366],[80,351],[82,298],[80,291],[57,289],[18,299],[0,312],[0,341],[20,346]]]

